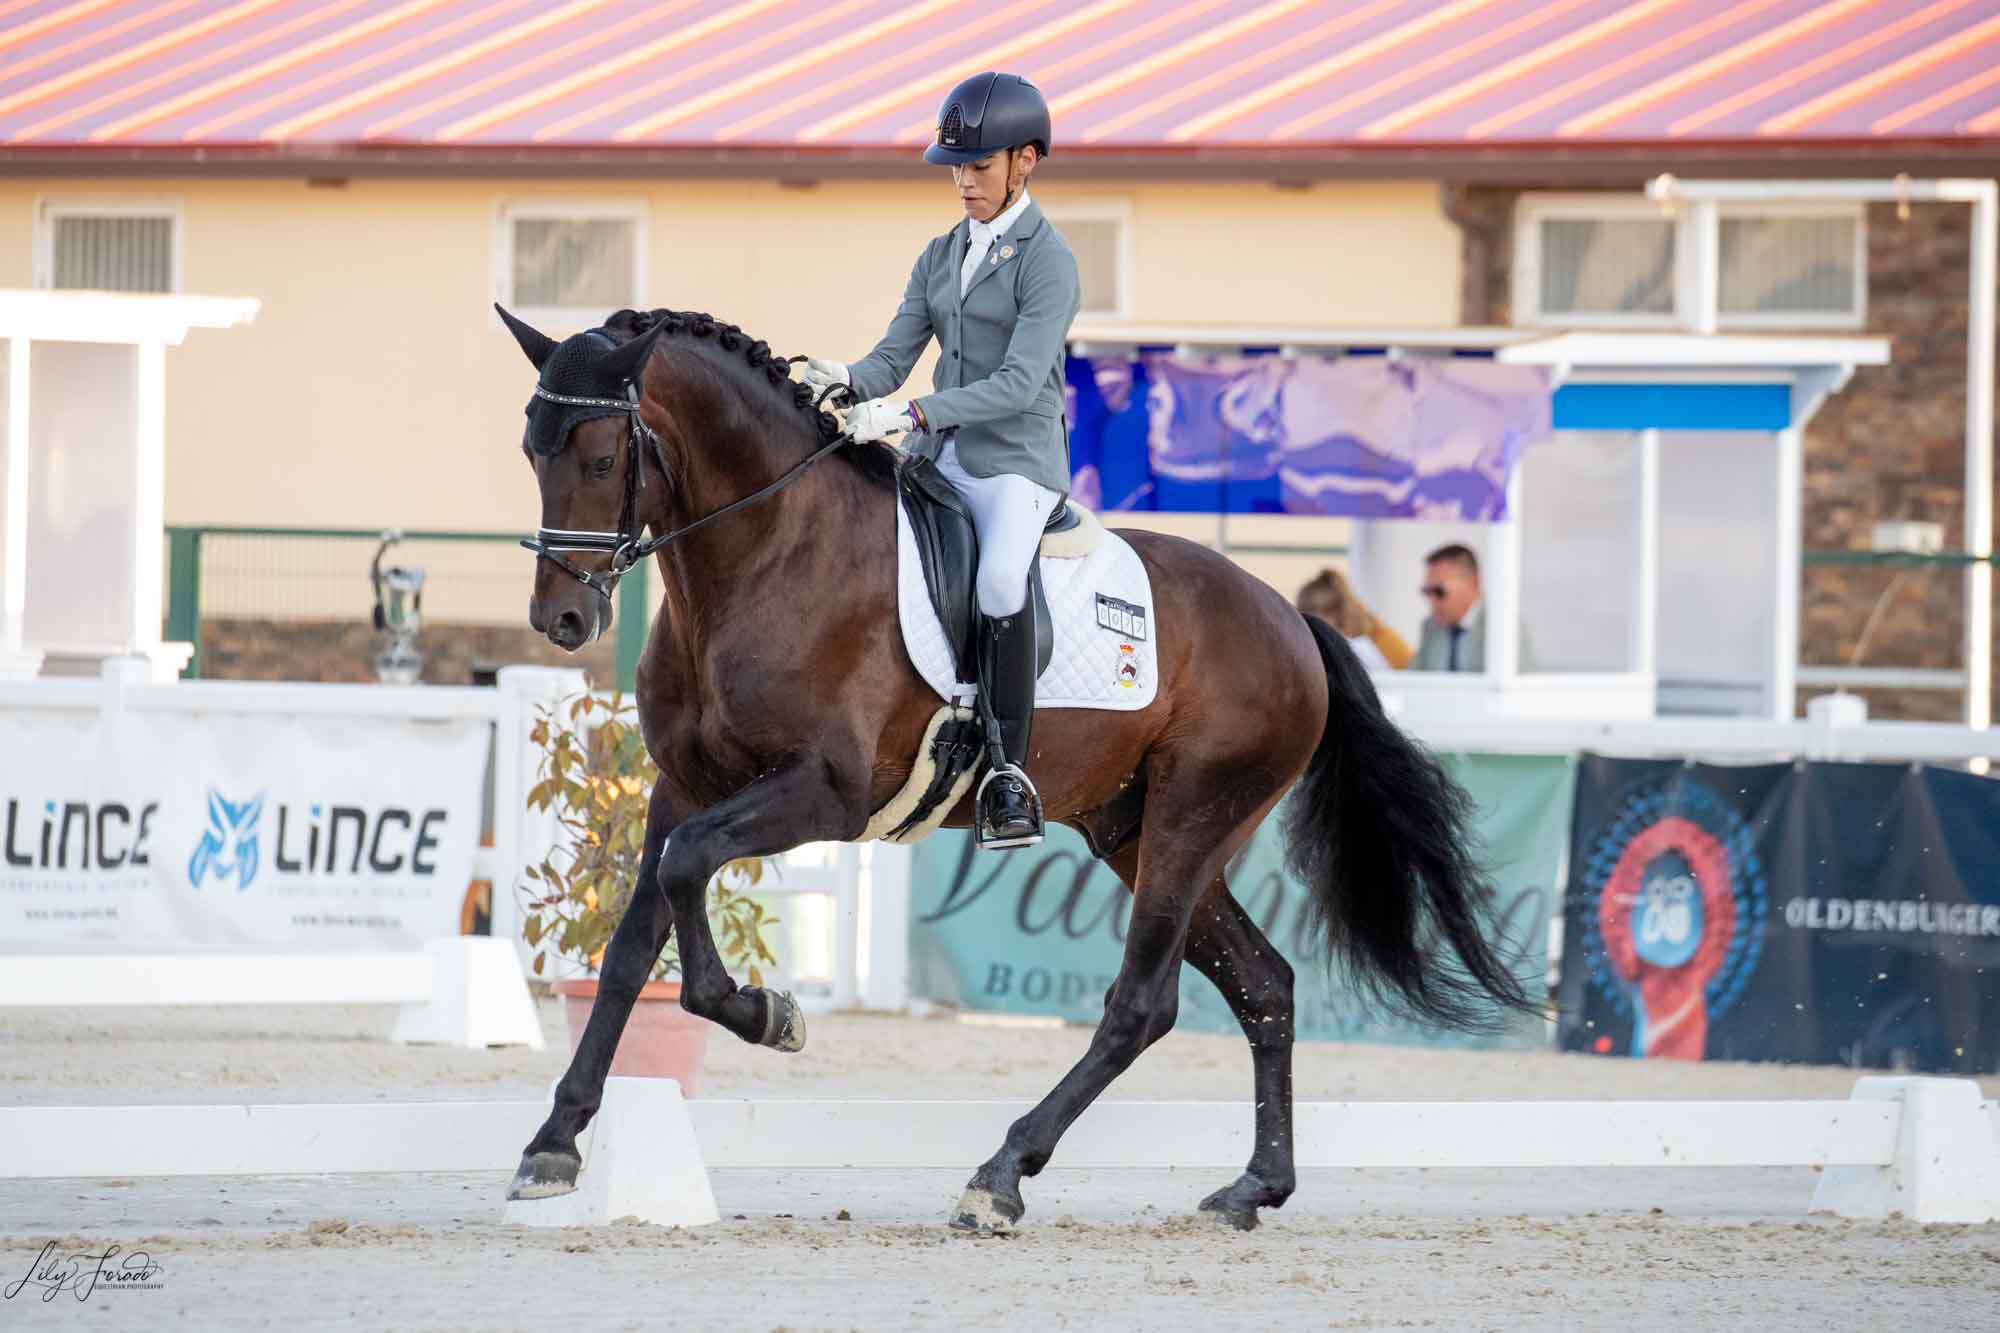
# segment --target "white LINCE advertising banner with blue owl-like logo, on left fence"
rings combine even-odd
[[[0,953],[332,953],[458,933],[480,721],[0,715]]]

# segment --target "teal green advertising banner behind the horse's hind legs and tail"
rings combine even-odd
[[[1478,801],[1484,865],[1498,897],[1492,931],[1530,993],[1548,973],[1548,919],[1568,827],[1568,757],[1448,757]],[[1280,807],[1228,871],[1230,891],[1292,963],[1298,979],[1300,1039],[1400,1045],[1538,1047],[1540,1021],[1498,1037],[1464,1037],[1412,1027],[1362,1003],[1328,975],[1304,929],[1304,889],[1284,873]],[[1376,891],[1356,885],[1356,893]],[[912,993],[962,1009],[1056,1015],[1096,1023],[1124,957],[1130,895],[1090,857],[1084,841],[1050,827],[1040,847],[982,853],[962,831],[942,831],[916,847],[910,869]],[[1182,969],[1182,1031],[1234,1033],[1222,995],[1192,967]]]

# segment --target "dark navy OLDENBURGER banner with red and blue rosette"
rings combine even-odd
[[[1560,1043],[2000,1069],[2000,783],[1584,757]]]

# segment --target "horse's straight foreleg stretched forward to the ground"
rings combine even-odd
[[[652,887],[672,827],[666,793],[654,787],[652,801],[646,805],[646,853],[634,881],[632,905],[626,907],[618,929],[612,931],[610,945],[604,947],[604,965],[598,969],[598,999],[590,1005],[584,1037],[576,1043],[576,1055],[570,1057],[570,1067],[556,1085],[554,1109],[520,1157],[520,1171],[514,1173],[514,1183],[506,1191],[508,1199],[544,1199],[576,1189],[576,1173],[584,1165],[576,1151],[576,1135],[584,1133],[604,1101],[604,1077],[610,1073],[618,1035],[624,1033],[638,991],[652,975],[652,965],[660,961],[660,951],[666,949],[666,937],[674,927],[666,899]]]

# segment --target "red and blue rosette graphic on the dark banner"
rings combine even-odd
[[[1742,817],[1674,775],[1626,791],[1590,847],[1590,979],[1632,1015],[1632,1055],[1698,1061],[1764,951],[1764,867]]]

